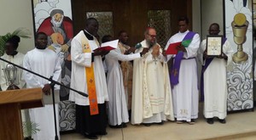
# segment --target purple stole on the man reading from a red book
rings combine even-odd
[[[181,44],[185,47],[188,48],[190,42],[192,42],[193,37],[195,36],[195,32],[189,31],[186,36],[184,36],[183,41]],[[178,43],[177,43],[178,44]],[[178,83],[178,75],[179,75],[179,68],[181,64],[181,60],[183,59],[183,52],[179,51],[177,52],[174,63],[171,68],[171,85],[172,87],[177,85]]]

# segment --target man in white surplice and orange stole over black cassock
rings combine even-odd
[[[108,51],[96,51],[99,42],[98,21],[89,18],[83,31],[73,37],[71,42],[72,74],[70,87],[88,94],[70,91],[69,100],[76,104],[76,130],[84,137],[97,139],[97,135],[107,135],[108,88],[102,64],[102,55]]]

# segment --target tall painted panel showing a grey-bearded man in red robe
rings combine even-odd
[[[70,48],[73,39],[71,0],[32,0],[34,31],[48,36],[48,48],[54,51],[61,63],[61,84],[69,87],[71,79]],[[68,101],[69,89],[60,89],[61,131],[74,129],[74,104]]]

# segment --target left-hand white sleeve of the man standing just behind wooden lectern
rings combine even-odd
[[[23,67],[27,70],[32,70],[32,65],[29,62],[29,56],[26,54],[23,60]],[[27,85],[30,85],[30,87],[44,87],[43,84],[40,83],[40,81],[38,81],[38,79],[35,77],[34,74],[24,70],[23,71],[23,77],[26,81]]]

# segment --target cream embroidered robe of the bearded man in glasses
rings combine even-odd
[[[146,41],[142,48],[148,48]],[[172,91],[166,58],[161,54],[152,56],[152,48],[141,59],[135,59],[133,65],[131,124],[159,123],[162,120],[174,120],[172,110]]]

